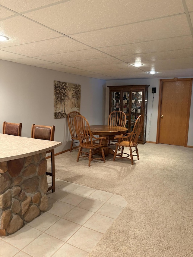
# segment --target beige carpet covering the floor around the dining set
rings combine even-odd
[[[193,256],[193,149],[150,143],[138,149],[134,165],[113,162],[110,155],[106,163],[92,161],[88,167],[87,158],[76,162],[76,150],[55,157],[56,178],[128,202],[89,256]]]

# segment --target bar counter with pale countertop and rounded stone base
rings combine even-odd
[[[46,151],[61,144],[0,134],[0,236],[16,232],[46,211]]]

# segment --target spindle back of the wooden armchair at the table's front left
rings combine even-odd
[[[74,126],[79,140],[79,145],[83,148],[93,147],[93,135],[87,119],[82,115],[74,117]]]

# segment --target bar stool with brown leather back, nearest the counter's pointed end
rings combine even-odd
[[[43,125],[32,125],[31,128],[31,138],[43,139],[54,141],[54,131],[55,126],[43,126]],[[46,172],[46,175],[52,176],[52,186],[49,186],[48,191],[52,190],[55,192],[55,164],[54,164],[54,149],[47,151],[46,153],[51,153],[51,172]]]

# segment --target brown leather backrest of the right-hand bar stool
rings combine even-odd
[[[31,138],[54,141],[55,126],[32,125]]]

